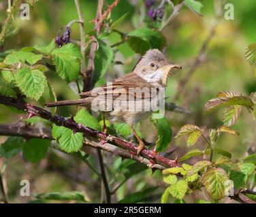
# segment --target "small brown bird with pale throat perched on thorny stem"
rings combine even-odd
[[[128,123],[139,142],[137,154],[144,149],[144,142],[135,132],[133,125],[153,113],[153,104],[159,106],[160,90],[167,86],[167,78],[176,64],[169,64],[162,52],[148,50],[135,66],[133,72],[83,92],[84,98],[47,103],[46,106],[78,105],[101,111],[103,117],[112,122]]]

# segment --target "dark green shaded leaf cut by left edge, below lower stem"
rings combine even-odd
[[[11,158],[20,153],[25,140],[20,137],[10,136],[0,145],[0,157]]]

